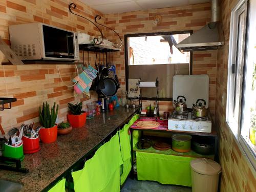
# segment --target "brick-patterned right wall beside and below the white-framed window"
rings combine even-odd
[[[232,132],[227,127],[226,102],[222,105],[222,96],[227,96],[227,66],[229,50],[229,30],[231,10],[237,0],[224,0],[221,3],[225,45],[218,50],[216,81],[216,124],[219,127],[219,156],[222,166],[221,191],[256,191],[255,170],[249,165],[245,154],[238,147]]]

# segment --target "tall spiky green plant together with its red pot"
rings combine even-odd
[[[39,107],[39,121],[43,126],[39,131],[39,137],[44,143],[52,143],[57,139],[58,129],[55,121],[57,119],[59,105],[57,104],[55,110],[55,104],[56,103],[54,102],[51,110],[50,105],[47,102],[46,104],[42,104],[42,109],[41,106]]]

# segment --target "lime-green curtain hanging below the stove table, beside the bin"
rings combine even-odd
[[[136,152],[138,180],[191,186],[191,157]]]

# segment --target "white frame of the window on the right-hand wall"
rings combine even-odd
[[[256,169],[256,154],[251,150],[249,144],[241,135],[243,127],[243,113],[244,113],[244,102],[245,102],[245,82],[246,82],[246,69],[247,69],[247,54],[248,54],[248,36],[249,36],[249,21],[250,21],[250,1],[249,0],[240,0],[238,4],[231,11],[230,18],[230,35],[229,35],[229,54],[228,54],[228,82],[227,82],[227,102],[226,102],[226,124],[233,133],[235,140],[241,150],[245,155],[246,160],[249,162],[249,165]],[[234,107],[234,80],[237,72],[232,73],[232,64],[233,60],[237,56],[237,45],[238,45],[238,27],[239,27],[239,10],[242,6],[245,6],[245,20],[244,20],[244,41],[243,41],[243,55],[242,55],[242,71],[241,71],[241,84],[240,84],[240,101],[239,101],[239,115],[238,115],[238,124],[231,122],[233,115],[230,112],[230,108]],[[232,101],[233,100],[233,103]]]

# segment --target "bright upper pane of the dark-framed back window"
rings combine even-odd
[[[189,63],[190,52],[180,52],[175,45],[190,34],[129,37],[129,65]]]

